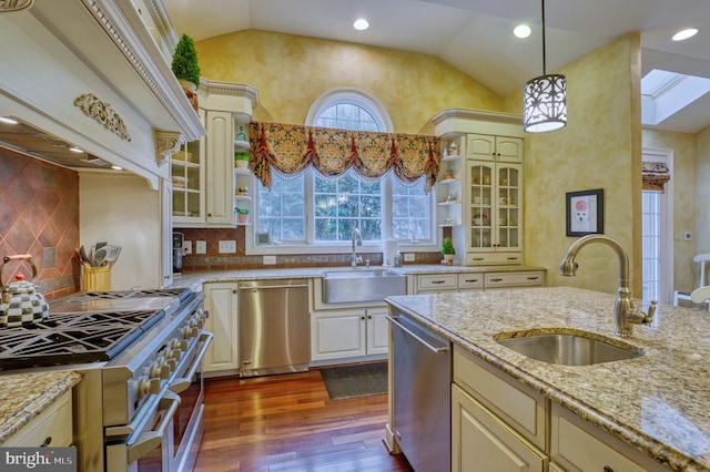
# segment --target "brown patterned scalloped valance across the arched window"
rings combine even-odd
[[[253,122],[250,168],[267,188],[272,168],[297,175],[313,167],[326,177],[337,177],[353,168],[367,179],[381,178],[392,171],[405,184],[425,176],[428,193],[442,161],[439,141],[416,134]]]

